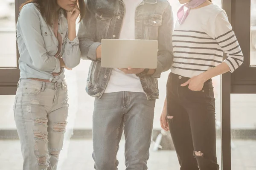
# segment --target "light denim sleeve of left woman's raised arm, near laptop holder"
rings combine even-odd
[[[62,59],[67,68],[74,68],[79,65],[81,59],[78,37],[76,37],[73,41],[70,41],[66,37],[64,42],[64,53],[62,55]]]

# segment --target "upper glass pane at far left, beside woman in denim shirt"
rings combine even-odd
[[[0,0],[0,67],[16,67],[15,0]]]

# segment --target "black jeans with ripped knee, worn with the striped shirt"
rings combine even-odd
[[[188,79],[170,73],[167,82],[166,119],[180,170],[219,170],[212,79],[204,83],[201,91],[180,86]]]

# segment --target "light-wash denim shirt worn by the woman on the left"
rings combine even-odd
[[[58,39],[52,26],[49,26],[34,3],[23,6],[17,21],[17,45],[20,53],[20,79],[37,78],[51,82],[62,82],[64,68],[58,58],[62,57],[68,68],[76,67],[81,59],[79,40],[68,39],[68,23],[64,11],[60,10],[58,32],[62,37],[61,52],[58,51]],[[59,73],[53,76],[52,73]]]

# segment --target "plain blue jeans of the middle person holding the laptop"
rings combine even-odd
[[[117,170],[116,154],[125,133],[126,170],[147,170],[155,99],[143,93],[107,93],[95,99],[93,159],[96,170]]]

